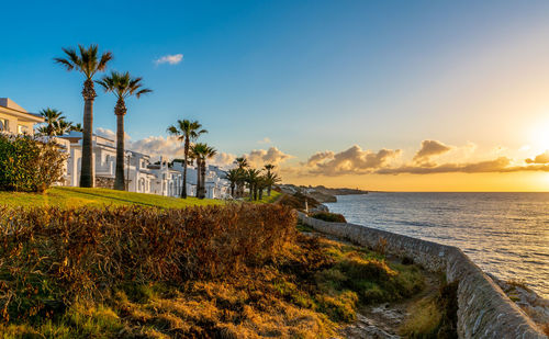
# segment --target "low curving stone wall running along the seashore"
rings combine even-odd
[[[321,233],[408,257],[430,271],[446,272],[459,281],[458,334],[460,338],[547,338],[503,291],[453,246],[345,223],[327,223],[299,213],[300,221]],[[386,242],[385,242],[386,241]]]

